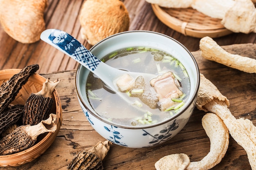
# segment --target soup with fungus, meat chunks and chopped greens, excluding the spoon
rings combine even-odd
[[[130,47],[110,53],[102,61],[118,69],[155,75],[152,82],[142,76],[133,79],[129,72],[117,77],[119,93],[130,96],[126,102],[90,73],[86,85],[88,100],[95,112],[109,121],[126,126],[155,124],[180,112],[188,99],[189,76],[182,63],[171,54],[147,47]]]

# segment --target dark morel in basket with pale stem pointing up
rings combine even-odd
[[[60,79],[56,79],[52,82],[46,79],[41,91],[31,93],[25,103],[24,115],[22,117],[23,125],[36,125],[49,116],[54,102],[52,92],[60,81]]]

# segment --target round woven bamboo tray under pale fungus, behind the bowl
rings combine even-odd
[[[191,37],[222,37],[232,33],[220,22],[220,19],[208,17],[195,9],[164,8],[151,4],[157,18],[171,29]]]

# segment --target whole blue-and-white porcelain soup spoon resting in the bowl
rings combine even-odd
[[[101,60],[86,49],[83,44],[64,31],[58,29],[47,29],[41,33],[40,38],[97,75],[99,79],[101,79],[115,93],[120,92],[115,84],[115,79],[121,75],[128,74],[134,79],[138,76],[142,76],[148,83],[150,79],[157,77],[153,74],[128,72],[113,68],[104,62],[101,62]],[[124,98],[125,96],[122,95],[122,97]],[[126,98],[127,97],[128,96],[126,95]]]

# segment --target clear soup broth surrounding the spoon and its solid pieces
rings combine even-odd
[[[145,126],[156,124],[173,117],[179,113],[188,99],[190,91],[190,81],[186,69],[175,56],[157,49],[146,47],[130,47],[110,53],[103,57],[106,64],[132,72],[150,73],[163,75],[171,71],[175,76],[175,82],[183,95],[172,98],[173,105],[161,110],[161,101],[157,102],[156,108],[150,108],[138,97],[129,97],[130,102],[126,102],[119,95],[112,93],[103,82],[89,73],[86,82],[86,95],[90,105],[101,117],[122,126]],[[150,82],[146,85],[153,95],[157,95]],[[153,90],[152,90],[153,89]],[[131,91],[124,91],[131,95]],[[148,97],[150,100],[151,96]]]

